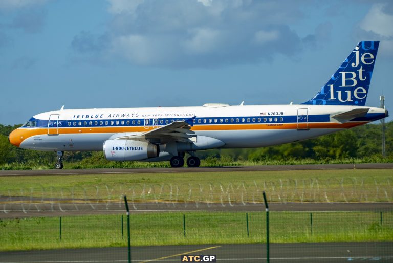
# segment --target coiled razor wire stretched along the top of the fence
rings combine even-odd
[[[94,211],[122,208],[123,196],[133,210],[157,206],[170,209],[233,207],[269,202],[393,202],[393,179],[342,177],[328,179],[275,179],[262,182],[206,184],[97,184],[65,187],[30,187],[0,191],[4,213],[23,211]]]

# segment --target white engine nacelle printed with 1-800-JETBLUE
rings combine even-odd
[[[139,161],[160,154],[159,146],[133,140],[108,140],[104,142],[103,150],[109,161]]]

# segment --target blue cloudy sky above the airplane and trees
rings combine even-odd
[[[391,1],[2,0],[0,123],[62,105],[302,103],[361,40],[381,41],[366,105],[383,93],[393,112]]]

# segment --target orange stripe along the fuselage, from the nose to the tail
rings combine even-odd
[[[352,128],[365,124],[366,122],[347,122],[343,124],[333,122],[309,123],[310,129],[343,129]],[[304,125],[304,123],[301,123]],[[303,126],[303,127],[304,127]],[[51,128],[56,130],[56,128]],[[100,133],[141,133],[154,128],[138,127],[62,127],[58,128],[59,134],[100,134]],[[266,124],[212,124],[195,125],[191,128],[194,131],[204,130],[266,130],[266,129],[297,129],[297,123],[266,123]],[[17,128],[10,134],[10,142],[15,146],[27,138],[39,135],[47,135],[48,128]],[[51,132],[53,134],[53,132]],[[55,136],[55,135],[54,135]]]

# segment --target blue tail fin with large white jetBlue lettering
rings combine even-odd
[[[302,104],[364,106],[379,41],[362,41],[342,62],[321,91]]]

